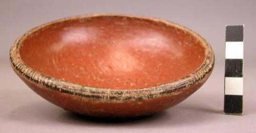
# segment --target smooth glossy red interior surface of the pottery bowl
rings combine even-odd
[[[76,18],[39,28],[20,44],[32,69],[114,89],[151,87],[195,72],[205,48],[172,24],[125,16]]]

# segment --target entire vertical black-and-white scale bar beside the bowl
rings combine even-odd
[[[224,114],[243,114],[244,26],[226,26]]]

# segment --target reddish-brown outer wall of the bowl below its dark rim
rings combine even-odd
[[[74,95],[63,94],[58,91],[49,90],[49,88],[44,86],[38,86],[38,84],[31,82],[22,75],[18,73],[17,75],[38,95],[66,110],[86,116],[136,117],[154,114],[180,103],[197,91],[208,79],[210,73],[205,75],[205,78],[197,84],[189,86],[185,90],[178,91],[175,94],[153,99],[128,101],[102,100],[97,98],[81,99]]]

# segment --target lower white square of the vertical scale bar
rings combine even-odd
[[[225,95],[243,95],[243,78],[225,77]]]

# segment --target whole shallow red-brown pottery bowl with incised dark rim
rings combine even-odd
[[[135,117],[198,90],[214,53],[200,35],[169,21],[94,14],[30,30],[11,47],[10,62],[35,93],[66,110]]]

